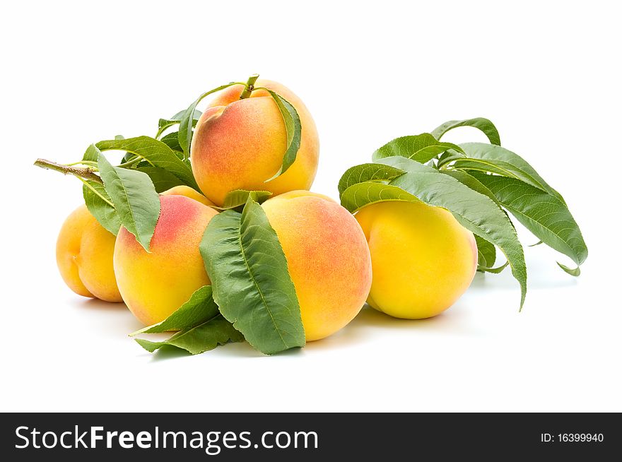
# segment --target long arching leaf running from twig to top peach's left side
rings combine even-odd
[[[199,191],[199,186],[194,180],[192,169],[162,141],[150,138],[149,136],[137,136],[123,140],[107,140],[97,143],[100,150],[127,150],[151,167],[160,167],[168,170],[175,177],[179,178],[183,184]]]

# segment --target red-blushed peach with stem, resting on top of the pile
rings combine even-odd
[[[234,189],[271,191],[281,194],[309,189],[315,178],[319,139],[315,123],[303,102],[280,83],[259,80],[291,102],[302,126],[300,149],[295,162],[280,177],[278,172],[286,152],[286,128],[276,102],[266,90],[254,90],[240,100],[243,85],[233,85],[210,102],[196,124],[190,160],[192,172],[208,199],[222,206]]]

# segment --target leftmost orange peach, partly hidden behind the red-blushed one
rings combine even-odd
[[[85,205],[61,227],[56,261],[66,285],[78,295],[122,302],[112,268],[115,235],[105,230]]]

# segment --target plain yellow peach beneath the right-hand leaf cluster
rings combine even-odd
[[[398,318],[436,316],[464,293],[477,268],[473,233],[444,208],[381,202],[355,215],[374,272],[368,303]]]

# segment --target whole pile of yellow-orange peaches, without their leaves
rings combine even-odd
[[[295,161],[278,177],[288,133],[266,89],[300,118]],[[307,341],[339,331],[365,302],[406,319],[450,307],[474,277],[474,235],[424,203],[373,203],[352,215],[309,191],[318,155],[315,123],[291,90],[273,81],[230,85],[214,93],[194,128],[189,162],[199,189],[160,192],[149,251],[123,226],[116,236],[106,230],[81,205],[59,233],[61,276],[79,295],[124,302],[141,323],[158,324],[211,284],[199,244],[230,191],[269,191],[261,207],[286,257]]]

